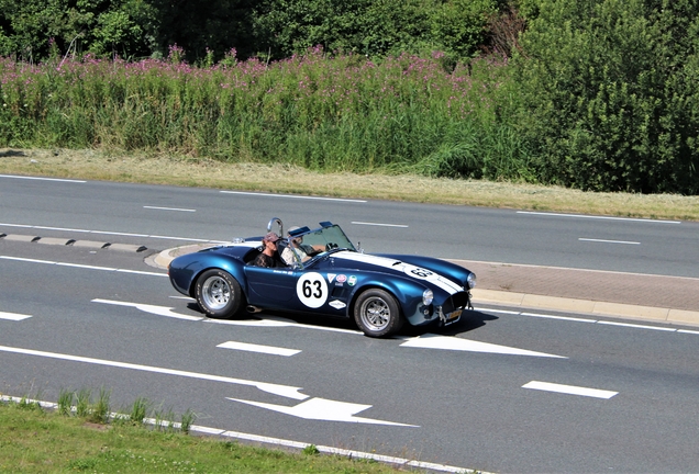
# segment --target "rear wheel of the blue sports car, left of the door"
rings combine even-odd
[[[243,305],[243,291],[231,273],[212,269],[197,279],[195,296],[207,316],[230,319]]]

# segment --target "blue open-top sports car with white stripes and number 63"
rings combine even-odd
[[[269,232],[275,223],[278,235]],[[265,309],[341,316],[354,318],[369,337],[390,336],[406,321],[453,324],[473,309],[476,275],[463,267],[430,257],[364,253],[330,222],[291,228],[281,238],[284,225],[275,217],[267,230],[265,237],[175,258],[168,267],[173,286],[196,298],[209,317]],[[258,258],[270,252],[267,260]]]

